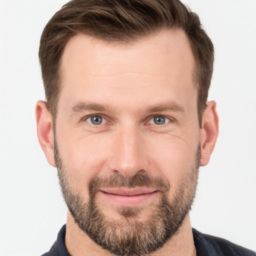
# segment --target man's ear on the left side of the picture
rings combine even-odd
[[[36,102],[35,118],[37,124],[37,137],[40,146],[46,156],[48,163],[52,166],[55,166],[53,152],[54,137],[52,116],[46,107],[45,102],[42,100]]]

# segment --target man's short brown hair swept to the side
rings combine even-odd
[[[182,29],[195,59],[199,124],[213,71],[214,48],[199,17],[179,0],[71,0],[43,29],[39,60],[46,106],[53,119],[60,93],[61,55],[66,42],[83,33],[109,42],[128,43],[160,29]]]

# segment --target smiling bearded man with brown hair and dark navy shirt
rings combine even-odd
[[[73,0],[55,13],[36,120],[68,214],[45,255],[255,255],[189,221],[218,134],[213,55],[177,0]]]

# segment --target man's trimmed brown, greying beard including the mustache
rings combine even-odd
[[[56,142],[54,157],[63,198],[79,228],[96,244],[113,254],[139,256],[159,249],[182,225],[195,196],[200,146],[193,165],[180,180],[178,189],[173,192],[172,200],[168,199],[170,185],[167,180],[152,177],[146,172],[137,172],[132,177],[121,174],[94,176],[88,183],[89,200],[84,202],[82,195],[74,189],[68,175],[71,169],[63,165]],[[116,220],[107,217],[103,207],[97,204],[96,197],[100,187],[153,187],[160,192],[160,199],[146,209],[116,206],[113,209],[120,216]],[[143,213],[145,215],[145,211],[147,218],[139,220],[139,216],[143,216]]]

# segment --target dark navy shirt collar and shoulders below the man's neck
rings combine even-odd
[[[196,256],[256,256],[256,253],[225,239],[202,234],[192,229]],[[42,256],[71,256],[65,246],[66,225],[58,232],[57,240],[50,250]]]

